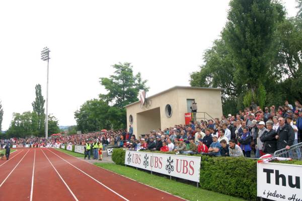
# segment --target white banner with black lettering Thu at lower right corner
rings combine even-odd
[[[257,194],[272,200],[302,200],[302,165],[257,164]]]

